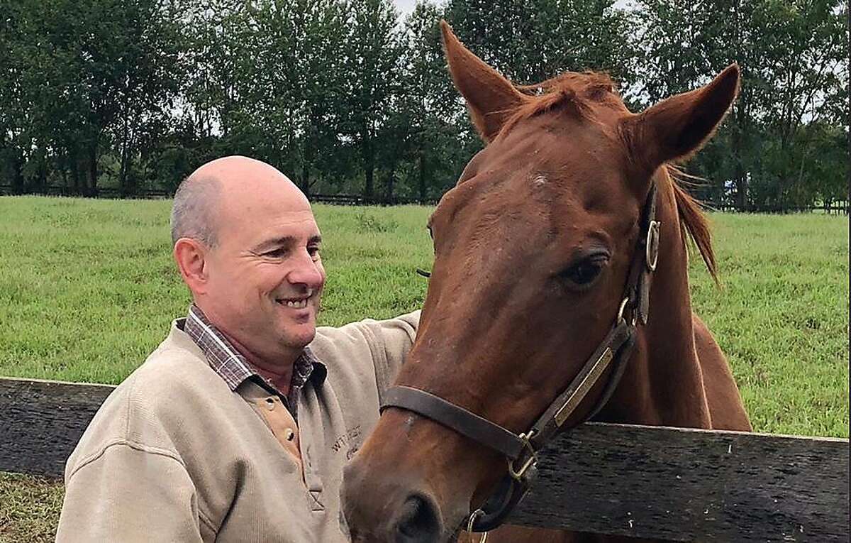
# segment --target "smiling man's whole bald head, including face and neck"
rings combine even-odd
[[[305,195],[269,164],[226,157],[186,178],[171,216],[172,253],[193,303],[288,386],[316,334],[325,284],[322,234]]]

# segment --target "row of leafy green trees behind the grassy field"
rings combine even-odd
[[[607,71],[632,111],[740,64],[739,100],[688,172],[706,200],[848,200],[842,0],[0,0],[0,185],[174,191],[227,154],[306,193],[433,200],[481,148],[446,19],[518,84]]]

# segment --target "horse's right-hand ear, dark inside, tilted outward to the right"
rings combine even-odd
[[[671,96],[626,123],[631,153],[651,171],[690,157],[709,140],[739,92],[739,66],[727,66],[705,87]]]

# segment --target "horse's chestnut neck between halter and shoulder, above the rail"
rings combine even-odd
[[[650,288],[649,320],[638,337],[620,385],[600,420],[709,427],[709,409],[694,348],[688,251],[671,180],[658,184],[659,263]]]

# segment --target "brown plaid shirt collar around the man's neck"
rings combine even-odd
[[[231,391],[236,391],[245,380],[258,380],[263,386],[278,396],[288,399],[293,405],[294,400],[300,394],[301,388],[308,380],[312,380],[315,386],[321,385],[328,369],[313,355],[310,347],[305,347],[293,366],[293,378],[290,383],[289,397],[284,396],[271,381],[260,375],[257,370],[241,355],[229,340],[211,324],[201,309],[192,304],[183,330],[201,348],[207,361],[219,376],[225,380]]]

